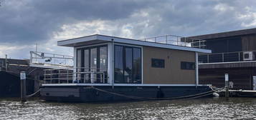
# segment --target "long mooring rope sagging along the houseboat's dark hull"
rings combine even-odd
[[[124,95],[124,94],[118,94],[118,93],[115,93],[115,92],[105,91],[103,89],[98,89],[94,86],[91,86],[90,88],[98,90],[98,91],[103,91],[103,92],[108,93],[108,94],[113,94],[113,95],[116,95],[116,96],[123,96],[123,97],[128,98],[128,99],[137,99],[137,100],[196,99],[196,98],[199,98],[199,97],[202,97],[202,96],[209,96],[210,94],[212,94],[214,92],[214,91],[207,91],[207,92],[200,93],[200,94],[193,94],[193,95],[189,95],[189,96],[169,97],[169,98],[151,98],[151,97],[146,98],[146,97],[128,96],[128,95]]]

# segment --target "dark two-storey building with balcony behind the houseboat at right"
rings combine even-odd
[[[256,89],[256,29],[190,37],[204,39],[204,49],[212,50],[199,54],[199,84],[222,87],[229,74],[232,89]]]

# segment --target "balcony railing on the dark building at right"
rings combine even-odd
[[[199,54],[199,64],[255,60],[255,59],[245,60],[244,52],[248,52],[248,51],[234,51],[234,52],[225,52],[225,53],[216,53],[216,54]],[[251,51],[251,52],[252,54],[256,55],[256,51]]]

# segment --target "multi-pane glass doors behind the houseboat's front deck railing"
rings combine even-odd
[[[108,47],[92,46],[77,49],[77,71],[81,73],[80,83],[106,84],[108,83]]]

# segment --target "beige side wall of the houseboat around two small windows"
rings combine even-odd
[[[164,59],[165,68],[151,67]],[[143,84],[195,84],[195,70],[181,69],[181,61],[195,62],[195,52],[143,46]]]

